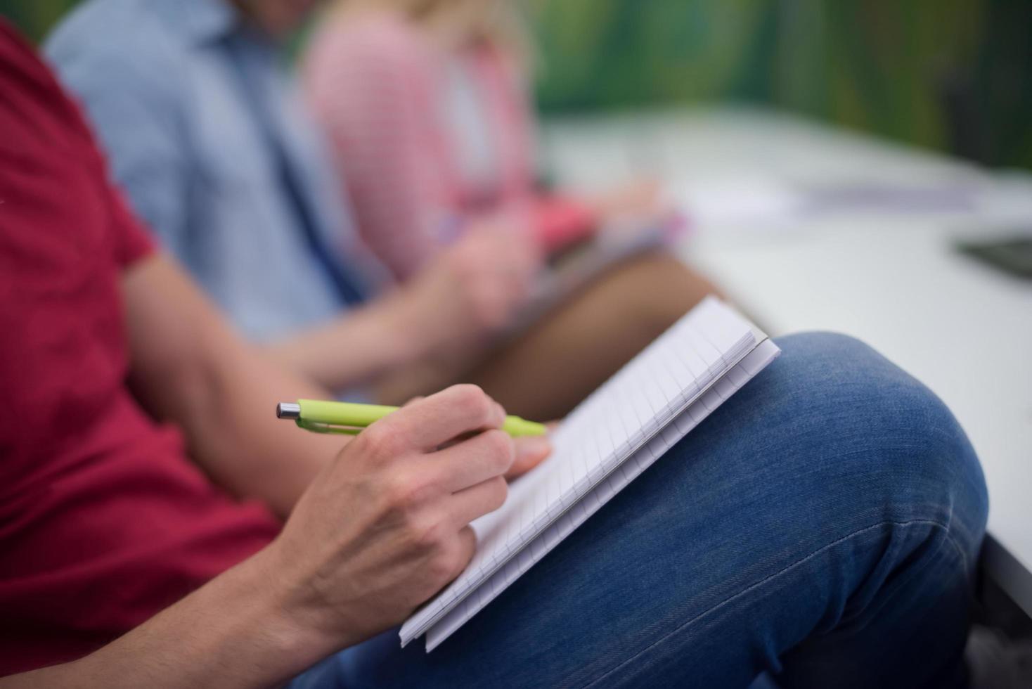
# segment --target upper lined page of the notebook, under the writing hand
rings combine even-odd
[[[707,298],[589,395],[552,434],[553,453],[473,523],[477,552],[401,628],[422,634],[755,347],[751,326]]]

